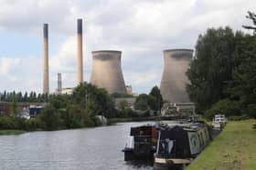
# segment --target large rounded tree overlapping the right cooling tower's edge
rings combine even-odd
[[[240,37],[240,36],[239,36]],[[199,35],[196,56],[187,70],[187,93],[204,112],[225,98],[236,65],[236,36],[229,28],[210,28]]]

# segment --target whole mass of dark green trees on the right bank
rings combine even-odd
[[[249,12],[247,17],[255,25],[255,15]],[[210,28],[199,35],[196,57],[187,71],[187,93],[197,113],[208,118],[216,114],[256,117],[255,46],[255,34],[234,33],[229,27]]]

